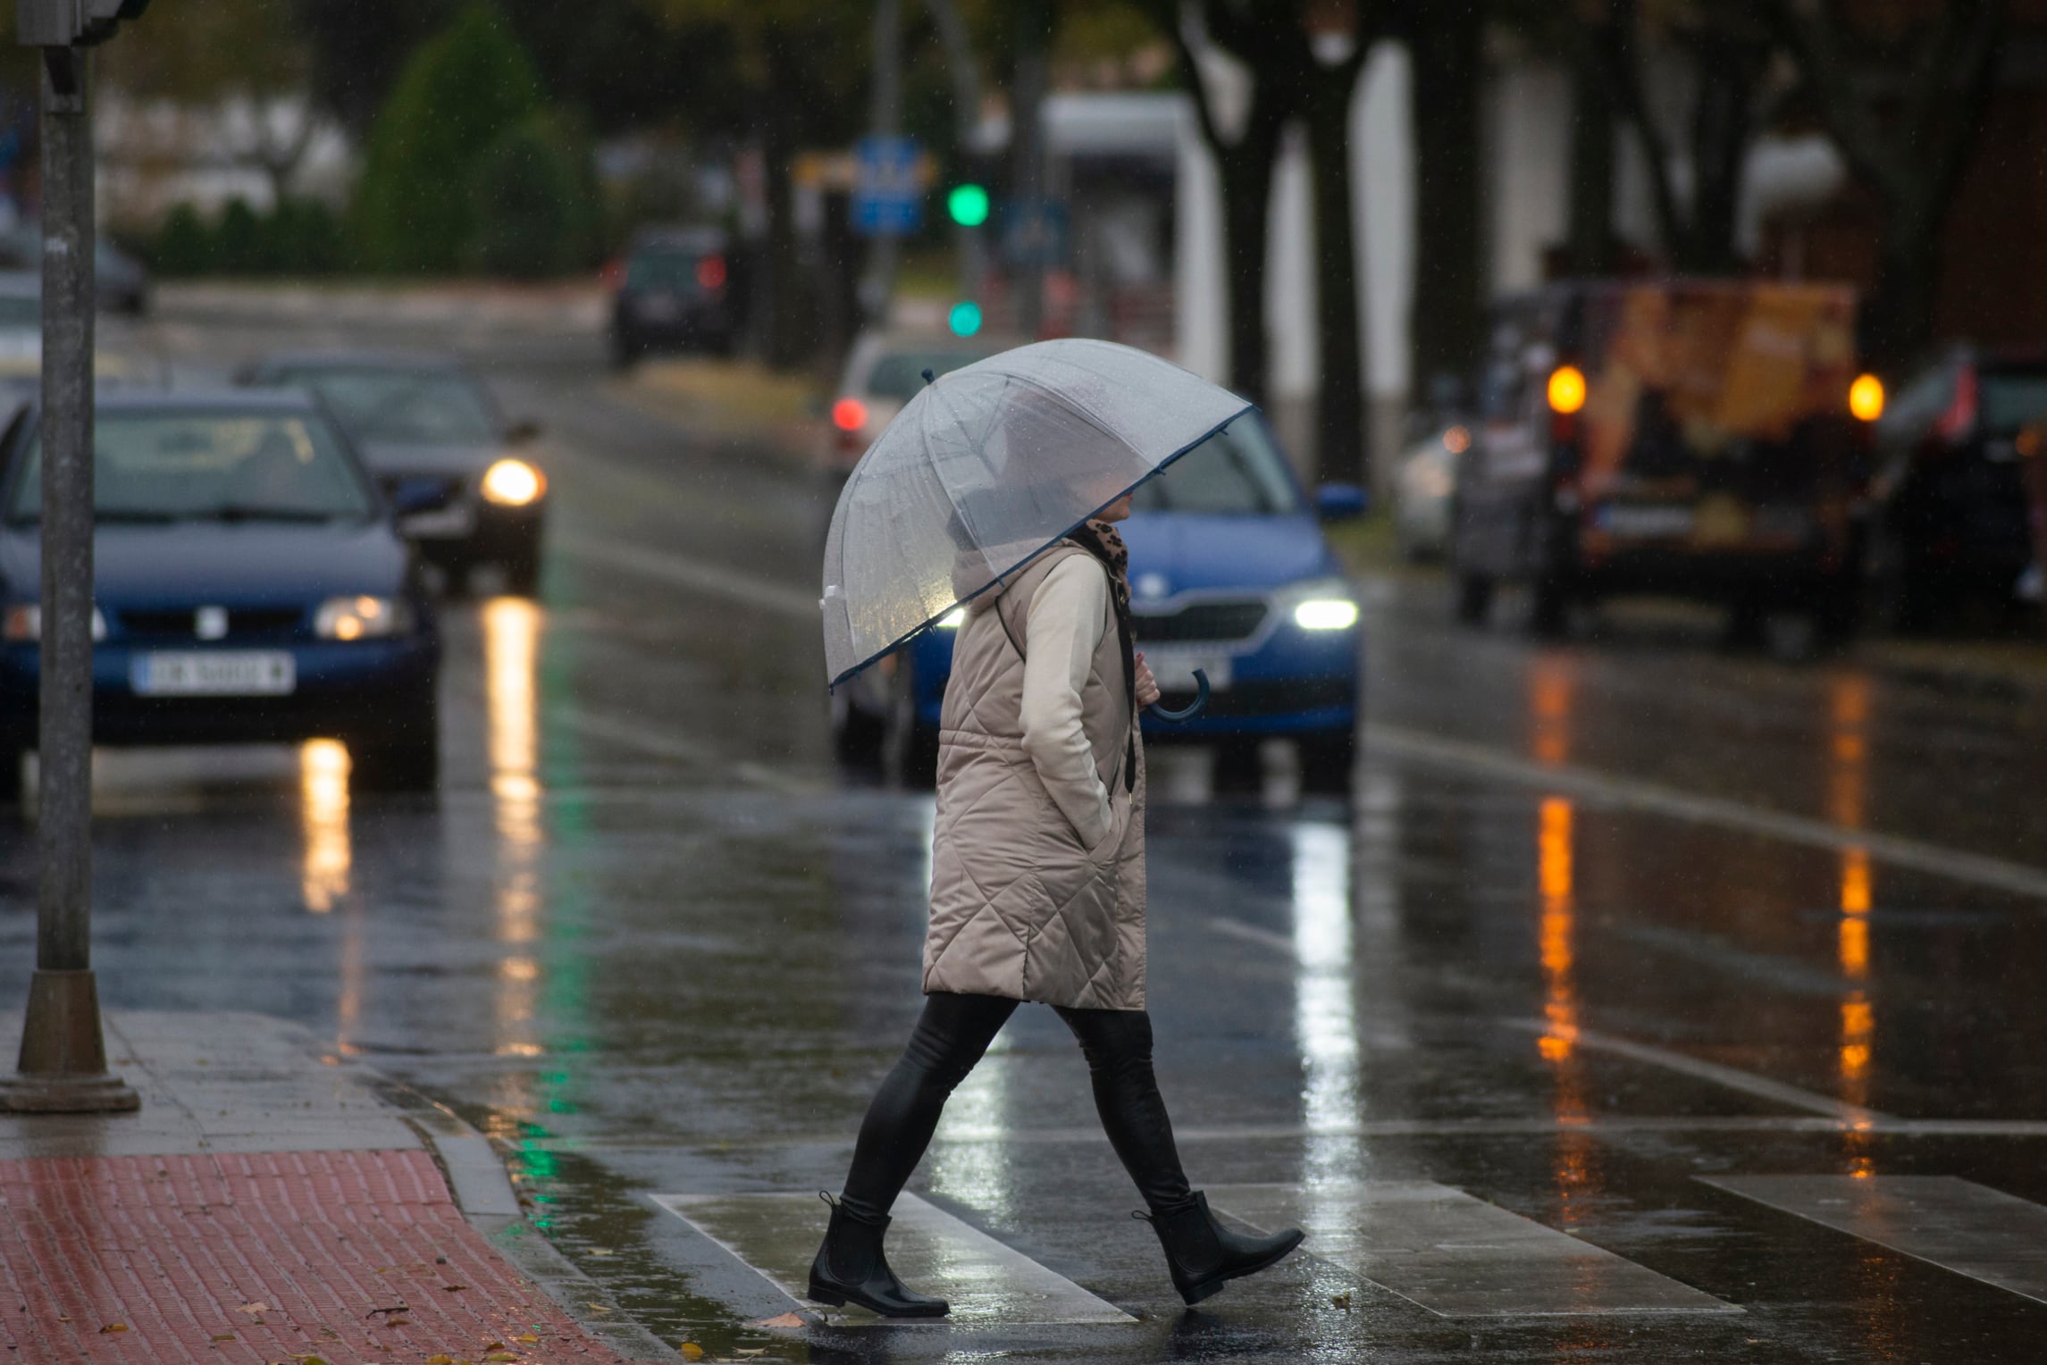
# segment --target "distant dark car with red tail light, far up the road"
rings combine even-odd
[[[731,354],[745,319],[743,268],[716,227],[645,229],[606,274],[612,293],[612,362],[653,350]]]

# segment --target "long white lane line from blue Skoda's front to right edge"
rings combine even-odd
[[[1865,829],[1844,829],[1826,821],[1812,821],[1799,814],[1767,810],[1719,796],[1697,796],[1656,782],[1638,782],[1591,767],[1537,763],[1515,757],[1505,749],[1474,745],[1462,739],[1412,731],[1398,724],[1367,724],[1365,749],[1410,763],[1431,763],[1480,778],[1498,778],[1521,786],[1537,786],[1568,796],[1607,800],[1638,810],[1654,810],[1695,825],[1719,825],[1746,833],[1769,835],[1787,843],[1803,843],[1820,849],[1865,849],[1898,868],[1932,872],[1957,882],[1973,882],[1996,890],[2016,892],[2047,902],[2047,868],[1967,853],[1963,849],[1922,843],[1900,835],[1883,835]]]

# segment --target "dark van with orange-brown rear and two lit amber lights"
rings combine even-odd
[[[1855,295],[1824,284],[1578,280],[1505,301],[1457,456],[1457,614],[1527,583],[1537,630],[1574,604],[1726,604],[1738,632],[1861,600],[1871,417]]]

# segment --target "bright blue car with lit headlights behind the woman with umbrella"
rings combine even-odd
[[[1193,720],[1144,716],[1146,743],[1210,743],[1243,765],[1257,741],[1290,739],[1304,788],[1349,790],[1363,647],[1355,589],[1318,520],[1359,512],[1355,487],[1331,485],[1310,501],[1255,411],[1138,487],[1120,528],[1136,647],[1163,706],[1193,700],[1193,669],[1214,688]],[[886,755],[907,780],[929,780],[952,675],[948,626],[958,620],[839,688],[843,759]]]

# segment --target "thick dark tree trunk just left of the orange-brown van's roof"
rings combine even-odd
[[[1414,381],[1470,379],[1486,338],[1480,25],[1435,12],[1408,35],[1414,125]]]

